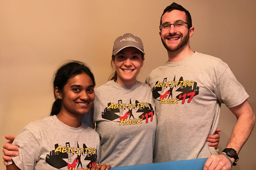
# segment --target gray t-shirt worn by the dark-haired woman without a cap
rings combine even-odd
[[[21,170],[87,170],[98,162],[100,147],[95,130],[84,123],[70,127],[56,116],[30,123],[13,144],[20,148],[19,156],[12,161]]]

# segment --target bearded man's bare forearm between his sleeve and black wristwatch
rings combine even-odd
[[[232,111],[232,109],[230,109]],[[236,115],[237,116],[237,115]],[[255,116],[251,108],[247,108],[246,112],[237,116],[237,122],[233,128],[233,132],[230,137],[230,141],[227,144],[227,148],[233,148],[237,153],[241,150],[244,143],[250,136],[255,123]]]

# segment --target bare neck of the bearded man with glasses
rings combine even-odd
[[[191,57],[194,52],[189,48],[189,45],[185,45],[177,51],[167,51],[169,62],[180,62],[184,59]]]

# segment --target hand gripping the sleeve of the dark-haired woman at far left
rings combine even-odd
[[[3,144],[3,164],[5,166],[8,165],[8,161],[12,160],[12,156],[19,156],[18,152],[19,147],[12,145],[13,140],[15,139],[16,136],[11,136],[11,135],[6,135],[5,138],[9,140],[5,144]]]

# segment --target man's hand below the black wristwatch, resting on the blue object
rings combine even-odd
[[[211,155],[204,164],[204,170],[230,170],[230,168],[230,161],[223,155]]]

